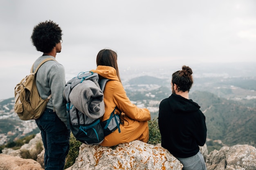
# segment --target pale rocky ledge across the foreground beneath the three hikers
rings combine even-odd
[[[43,170],[44,150],[33,159],[20,158],[21,150],[35,153],[42,143],[40,134],[19,150],[4,149],[0,154],[0,170]],[[207,170],[256,170],[256,148],[235,145],[213,150],[200,147],[206,160]],[[182,164],[160,144],[151,145],[141,141],[119,144],[115,147],[82,144],[76,162],[67,170],[182,170]]]

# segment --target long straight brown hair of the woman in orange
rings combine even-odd
[[[121,82],[119,70],[117,66],[117,53],[110,49],[103,49],[99,51],[96,59],[97,66],[111,66],[116,69],[117,77]]]

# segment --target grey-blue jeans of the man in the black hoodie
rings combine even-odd
[[[192,157],[177,159],[183,164],[182,170],[207,170],[200,151]]]

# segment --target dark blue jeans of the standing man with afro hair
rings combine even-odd
[[[69,152],[70,130],[53,110],[46,108],[36,124],[45,147],[45,170],[63,170]]]

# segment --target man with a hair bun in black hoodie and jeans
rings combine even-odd
[[[199,146],[205,144],[207,127],[200,106],[189,99],[192,73],[189,66],[173,73],[172,94],[159,104],[158,125],[162,147],[183,164],[183,170],[206,170]]]

